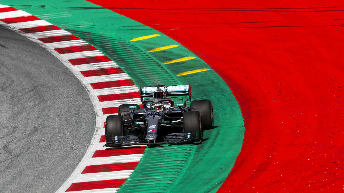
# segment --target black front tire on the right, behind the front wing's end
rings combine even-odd
[[[203,139],[201,113],[198,111],[186,111],[183,115],[184,133],[196,133],[196,142]]]

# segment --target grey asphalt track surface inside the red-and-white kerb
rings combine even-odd
[[[69,69],[0,25],[0,192],[55,192],[92,139],[95,114]]]

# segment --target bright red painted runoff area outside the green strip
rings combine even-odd
[[[227,82],[246,131],[218,192],[344,190],[344,2],[91,2],[175,39]]]

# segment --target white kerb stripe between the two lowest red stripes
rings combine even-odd
[[[127,179],[133,171],[134,170],[121,170],[112,172],[83,173],[76,182]]]

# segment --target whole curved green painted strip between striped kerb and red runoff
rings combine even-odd
[[[244,138],[240,107],[225,82],[203,60],[183,46],[148,52],[173,39],[125,16],[83,0],[0,0],[44,19],[84,39],[114,60],[138,87],[191,84],[195,99],[210,99],[218,126],[204,131],[201,145],[147,148],[121,192],[216,192],[232,169]],[[153,38],[130,40],[159,34]],[[162,65],[178,58],[192,60]],[[179,73],[210,69],[184,76]]]

